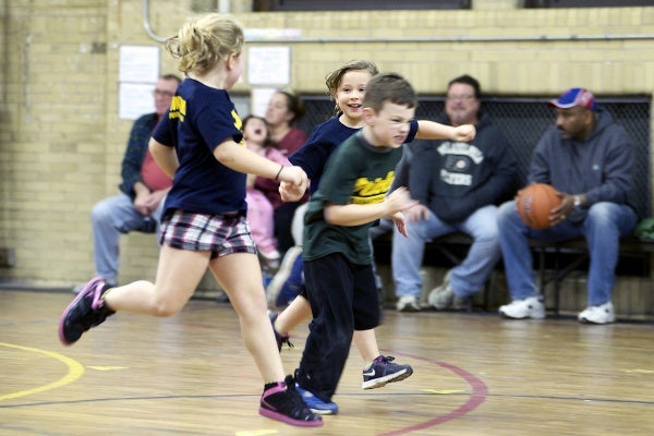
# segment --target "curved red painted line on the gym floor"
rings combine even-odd
[[[422,423],[419,423],[415,425],[411,425],[405,428],[400,428],[400,429],[396,429],[396,431],[388,432],[388,433],[382,433],[378,436],[405,435],[411,432],[416,432],[420,429],[425,429],[428,427],[433,427],[435,425],[446,423],[450,420],[453,420],[455,417],[460,417],[460,416],[463,416],[463,415],[472,412],[477,407],[480,407],[480,404],[482,404],[486,400],[486,397],[488,396],[488,387],[484,384],[484,382],[482,382],[481,379],[475,377],[473,374],[471,374],[464,370],[461,370],[458,366],[450,365],[449,363],[446,363],[446,362],[439,362],[439,361],[434,361],[431,359],[419,358],[419,356],[411,355],[411,354],[404,354],[404,353],[398,353],[398,352],[395,352],[395,354],[402,355],[403,358],[410,358],[410,359],[415,359],[415,360],[423,361],[423,362],[433,363],[433,364],[443,366],[446,370],[451,371],[452,373],[459,375],[461,378],[463,378],[465,382],[468,382],[468,384],[472,388],[472,393],[470,395],[470,398],[468,399],[468,401],[465,401],[465,403],[461,404],[461,407],[452,410],[449,413],[437,416],[433,420],[428,420],[428,421],[425,421],[425,422],[422,422]]]

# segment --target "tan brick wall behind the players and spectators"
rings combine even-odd
[[[191,3],[152,0],[155,34],[173,35]],[[654,8],[518,10],[496,0],[471,11],[247,13],[237,3],[246,27],[325,38],[275,43],[291,47],[291,85],[305,93],[324,93],[325,75],[355,58],[404,74],[425,95],[461,73],[502,95],[654,89],[652,39],[629,37],[654,35]],[[89,211],[117,193],[132,125],[118,117],[118,50],[159,44],[144,31],[141,0],[0,0],[0,247],[16,256],[0,279],[81,282],[93,274]],[[359,40],[334,40],[342,37]],[[160,71],[174,71],[164,51]],[[249,92],[245,74],[234,93]],[[154,276],[152,237],[124,238],[122,254],[123,281]]]

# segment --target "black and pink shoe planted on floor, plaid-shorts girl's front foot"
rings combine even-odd
[[[259,414],[300,427],[319,427],[323,419],[313,413],[295,390],[293,376],[264,390]]]

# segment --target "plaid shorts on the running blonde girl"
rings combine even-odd
[[[256,254],[256,245],[243,215],[204,215],[184,210],[167,214],[160,242],[173,249],[210,251],[211,258],[232,253]]]

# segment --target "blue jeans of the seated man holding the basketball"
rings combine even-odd
[[[564,221],[549,229],[536,230],[522,221],[516,209],[516,202],[502,204],[497,221],[511,299],[523,300],[538,293],[529,239],[565,241],[583,235],[589,244],[591,258],[589,305],[609,302],[616,280],[620,237],[631,233],[637,220],[631,207],[601,202],[589,208],[585,220],[580,223]]]

